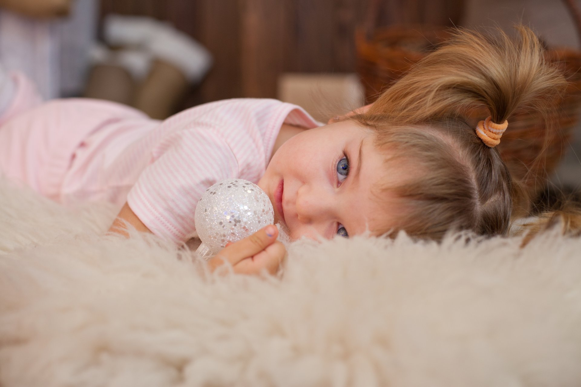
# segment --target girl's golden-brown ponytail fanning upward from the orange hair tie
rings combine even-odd
[[[418,124],[485,108],[501,124],[517,108],[547,112],[566,81],[546,63],[535,34],[524,26],[515,28],[517,40],[500,30],[493,36],[458,30],[387,89],[368,118]]]

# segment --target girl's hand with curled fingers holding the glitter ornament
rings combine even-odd
[[[235,273],[259,274],[263,269],[275,274],[286,258],[286,249],[277,241],[278,229],[269,225],[238,242],[227,244],[207,265],[211,272],[229,262]]]

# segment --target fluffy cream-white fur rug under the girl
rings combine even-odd
[[[103,237],[106,205],[0,204],[2,387],[581,385],[580,239],[296,243],[281,279],[204,280]]]

